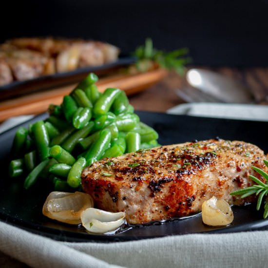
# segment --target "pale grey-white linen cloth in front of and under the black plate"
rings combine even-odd
[[[0,222],[0,250],[30,267],[267,267],[268,231],[115,243],[58,242]]]

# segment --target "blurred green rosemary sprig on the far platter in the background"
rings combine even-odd
[[[153,62],[156,62],[160,67],[175,70],[178,74],[183,74],[185,64],[191,62],[187,48],[177,49],[171,52],[164,52],[153,48],[151,38],[145,40],[145,44],[135,49],[133,56],[137,58],[135,66],[141,72],[148,71]]]

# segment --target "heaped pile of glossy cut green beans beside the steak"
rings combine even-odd
[[[125,92],[107,88],[100,93],[97,80],[89,74],[61,105],[50,105],[46,120],[16,132],[9,175],[26,176],[25,189],[46,181],[55,191],[77,191],[86,166],[159,145],[158,134],[140,122]]]

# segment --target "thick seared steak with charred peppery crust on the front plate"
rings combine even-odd
[[[255,201],[230,192],[251,186],[249,174],[263,180],[251,166],[267,172],[265,158],[243,141],[161,146],[93,163],[82,172],[82,187],[99,209],[125,211],[128,223],[143,224],[201,211],[212,196],[235,205]]]

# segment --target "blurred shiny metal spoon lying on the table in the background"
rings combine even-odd
[[[194,88],[229,103],[252,103],[253,95],[241,83],[223,77],[215,72],[190,69],[186,74],[187,82]]]

